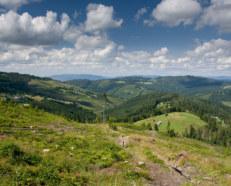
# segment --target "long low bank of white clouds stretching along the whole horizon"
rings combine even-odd
[[[152,52],[128,51],[105,35],[81,35],[76,46],[70,48],[1,43],[0,66],[5,71],[39,75],[64,72],[107,75],[230,75],[230,49],[231,41],[215,39],[200,43],[185,54],[174,57],[166,47]]]

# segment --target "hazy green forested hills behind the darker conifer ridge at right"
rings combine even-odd
[[[138,95],[163,92],[190,95],[200,99],[216,101],[231,105],[231,83],[195,76],[166,76],[166,77],[123,77],[97,81],[73,80],[69,84],[80,86],[95,92],[106,92],[122,99]]]

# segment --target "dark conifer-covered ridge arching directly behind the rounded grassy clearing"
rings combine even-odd
[[[176,111],[191,112],[206,121],[209,120],[209,117],[220,117],[227,123],[231,123],[231,108],[172,93],[140,95],[112,109],[108,109],[107,114],[111,120],[134,122],[153,115]]]

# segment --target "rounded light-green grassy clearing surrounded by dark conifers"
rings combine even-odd
[[[154,125],[161,121],[159,131],[165,133],[167,131],[167,125],[170,123],[170,128],[174,129],[178,134],[182,134],[186,128],[193,125],[194,127],[201,127],[206,123],[202,121],[198,116],[187,112],[174,112],[169,114],[163,114],[160,116],[151,117],[145,120],[141,120],[135,123],[135,125],[148,124]]]

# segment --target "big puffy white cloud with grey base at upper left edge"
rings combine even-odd
[[[0,41],[20,45],[54,44],[62,40],[69,22],[67,14],[62,14],[58,21],[57,14],[52,11],[38,17],[9,11],[0,15]]]

